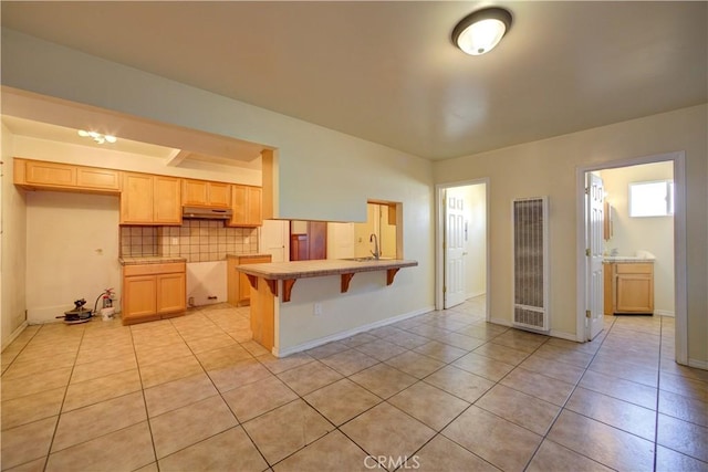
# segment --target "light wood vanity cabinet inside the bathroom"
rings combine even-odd
[[[613,262],[604,269],[606,315],[654,313],[654,263]]]

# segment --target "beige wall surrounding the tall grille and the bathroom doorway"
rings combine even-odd
[[[436,162],[436,183],[489,178],[491,313],[511,322],[510,202],[550,197],[551,328],[576,332],[579,167],[683,150],[686,154],[688,357],[708,366],[708,123],[706,105],[587,129],[551,139]]]

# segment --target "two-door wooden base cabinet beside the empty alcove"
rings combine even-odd
[[[123,324],[176,316],[187,310],[184,262],[123,266]]]

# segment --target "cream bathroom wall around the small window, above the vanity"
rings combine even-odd
[[[605,249],[616,249],[620,255],[649,251],[654,261],[654,313],[674,316],[674,218],[629,218],[628,187],[631,182],[673,180],[673,162],[621,167],[600,172],[606,200],[614,208],[613,235]]]

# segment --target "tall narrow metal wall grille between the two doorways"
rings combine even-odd
[[[516,199],[513,213],[513,325],[549,331],[548,197]]]

